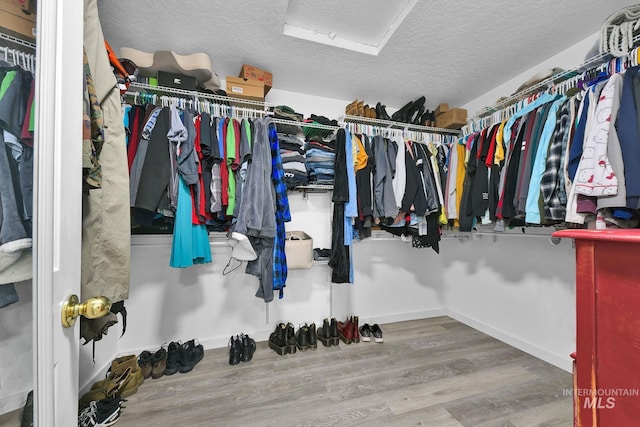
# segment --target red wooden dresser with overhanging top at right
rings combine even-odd
[[[576,426],[640,426],[640,229],[575,239]]]

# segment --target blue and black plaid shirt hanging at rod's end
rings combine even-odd
[[[284,287],[287,281],[287,257],[284,253],[286,232],[284,223],[291,221],[287,186],[284,183],[284,170],[280,157],[280,145],[276,126],[270,119],[265,120],[269,128],[269,143],[271,145],[271,181],[276,192],[276,237],[273,243],[273,289],[279,290],[279,299],[284,297]]]

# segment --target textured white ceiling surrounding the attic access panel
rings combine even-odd
[[[305,25],[302,8],[308,7],[310,21],[322,10],[325,16],[333,12],[339,25],[353,23],[344,34],[363,23],[388,25],[388,16],[381,18],[375,7],[354,13],[344,4],[296,1],[296,24]],[[271,71],[276,89],[391,107],[425,95],[428,108],[440,102],[464,105],[598,32],[610,14],[630,4],[419,0],[379,55],[372,56],[283,35],[287,0],[98,3],[105,37],[117,52],[123,46],[205,52],[223,79],[238,75],[248,63]],[[366,31],[363,37],[377,33]]]

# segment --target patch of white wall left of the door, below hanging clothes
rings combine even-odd
[[[31,285],[16,283],[19,301],[0,309],[0,414],[22,407],[33,389]]]

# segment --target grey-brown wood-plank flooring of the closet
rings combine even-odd
[[[259,342],[235,366],[207,350],[189,373],[145,380],[116,425],[573,425],[569,373],[449,317],[381,328],[384,343],[286,356]]]

